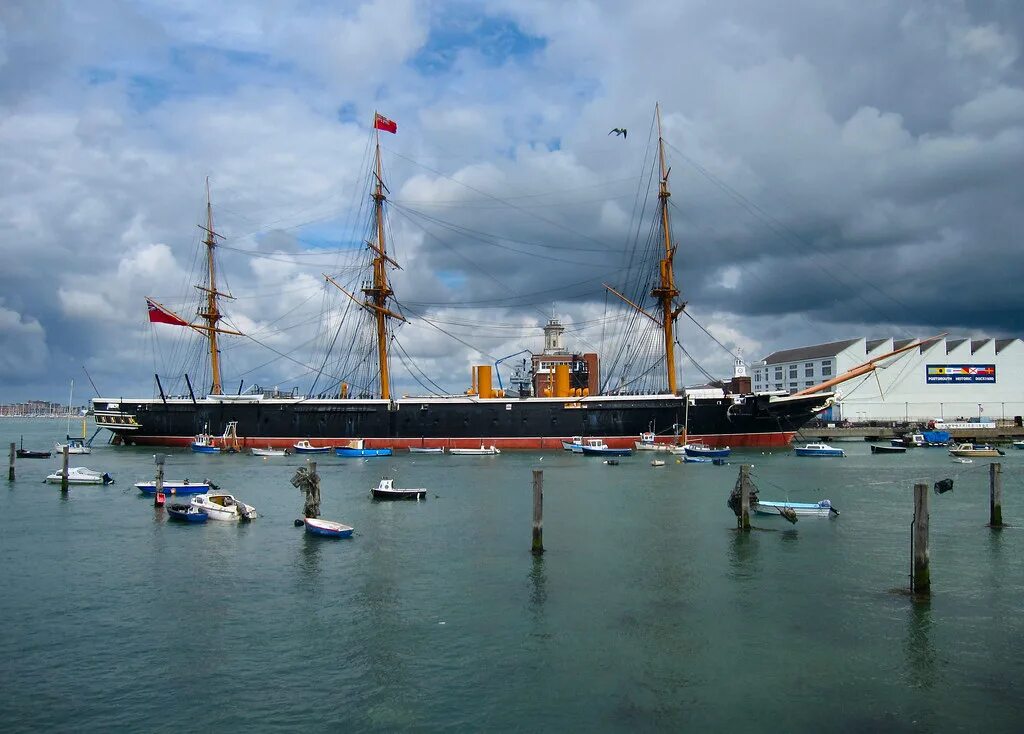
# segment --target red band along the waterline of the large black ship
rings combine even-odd
[[[696,435],[690,434],[689,440],[700,441],[708,446],[731,448],[778,448],[790,445],[795,435],[794,431],[779,431],[775,433],[719,433]],[[125,434],[125,440],[129,443],[145,446],[188,446],[194,440],[194,436],[140,436],[135,434]],[[640,440],[639,436],[603,436],[604,442],[611,448],[633,448],[634,443]],[[528,436],[523,438],[367,438],[364,439],[364,446],[367,448],[479,448],[484,446],[497,446],[501,449],[521,449],[521,450],[547,450],[561,449],[562,441],[568,441],[571,436]],[[239,446],[242,448],[292,448],[304,437],[270,437],[270,438],[246,438],[239,436]],[[348,443],[348,438],[310,438],[309,442],[314,446],[343,446]],[[658,443],[671,445],[674,440],[672,436],[658,436]],[[221,445],[221,439],[215,438],[216,445]]]

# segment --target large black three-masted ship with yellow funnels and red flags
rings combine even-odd
[[[557,364],[549,376],[547,394],[517,395],[493,389],[489,365],[474,368],[470,394],[395,397],[389,374],[389,336],[395,321],[406,317],[392,305],[394,292],[388,268],[397,267],[389,254],[384,210],[387,187],[381,164],[380,131],[394,132],[394,123],[375,114],[376,155],[373,165],[373,235],[367,242],[372,276],[362,284],[359,298],[334,278],[327,276],[355,302],[373,323],[376,384],[373,397],[350,396],[341,384],[332,397],[281,394],[278,391],[250,391],[226,394],[221,381],[218,336],[238,335],[220,321],[220,299],[230,298],[217,285],[215,251],[219,234],[214,230],[213,211],[207,185],[206,272],[197,288],[204,295],[198,310],[201,322],[194,323],[162,304],[148,300],[152,321],[195,330],[207,341],[210,389],[197,395],[187,381],[188,395],[169,396],[157,377],[159,396],[152,398],[96,397],[92,400],[96,424],[114,433],[115,442],[136,445],[185,446],[199,433],[217,433],[234,424],[237,440],[245,446],[290,447],[299,440],[316,445],[337,445],[360,440],[367,447],[475,447],[494,445],[501,449],[561,449],[571,436],[601,438],[610,447],[631,447],[641,433],[656,433],[657,441],[675,442],[685,432],[689,440],[709,446],[782,446],[797,430],[826,408],[833,393],[780,395],[755,394],[750,378],[741,371],[725,387],[698,391],[677,387],[676,321],[685,304],[676,287],[670,225],[669,169],[666,166],[660,113],[657,122],[658,244],[660,253],[657,279],[649,296],[656,308],[645,310],[617,290],[606,287],[640,317],[649,320],[664,343],[667,391],[651,394],[591,394],[569,387],[568,365]],[[350,289],[351,290],[351,289]],[[553,379],[552,379],[553,378]],[[688,404],[687,404],[688,403]]]

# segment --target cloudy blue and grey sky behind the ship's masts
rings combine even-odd
[[[5,0],[0,401],[72,379],[84,400],[85,371],[104,395],[174,381],[187,347],[144,299],[193,298],[207,177],[225,309],[259,342],[224,339],[225,389],[308,390],[344,299],[322,273],[365,236],[375,111],[398,124],[395,392],[422,393],[416,371],[463,391],[552,315],[601,349],[655,102],[706,370],[1024,336],[1022,43],[1014,0]]]

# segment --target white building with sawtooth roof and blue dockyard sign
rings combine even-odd
[[[846,339],[774,352],[753,365],[753,387],[798,392],[911,341]],[[827,420],[1013,421],[1024,416],[1024,341],[930,339],[833,390],[837,400]]]

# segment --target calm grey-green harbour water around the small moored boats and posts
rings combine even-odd
[[[3,456],[62,438],[0,421]],[[168,523],[132,484],[154,450],[105,445],[72,466],[110,486],[67,496],[59,467],[18,460],[0,487],[0,730],[1020,731],[1024,450],[845,459],[734,452],[317,456],[322,515],[294,525],[302,457],[167,452],[252,523]],[[988,464],[1002,465],[1002,530]],[[753,465],[763,500],[841,515],[753,518],[726,500]],[[544,545],[530,554],[544,470]],[[423,502],[377,503],[382,476]],[[903,593],[915,482],[931,501],[930,601]],[[168,499],[169,502],[173,498]]]

